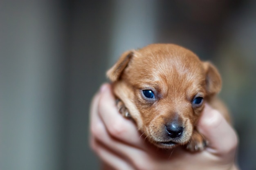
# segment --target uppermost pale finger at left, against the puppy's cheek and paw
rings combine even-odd
[[[99,115],[110,135],[133,146],[144,147],[144,137],[136,125],[118,112],[110,85],[106,86],[99,99]]]

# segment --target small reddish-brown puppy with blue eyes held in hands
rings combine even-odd
[[[160,148],[203,150],[206,141],[196,124],[206,102],[229,121],[215,97],[222,84],[217,69],[181,46],[151,44],[126,51],[107,76],[120,112]]]

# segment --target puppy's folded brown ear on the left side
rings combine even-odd
[[[130,62],[130,59],[132,58],[134,54],[134,51],[126,51],[124,52],[119,60],[107,71],[107,77],[112,81],[117,81],[121,74],[123,73],[124,69]]]

